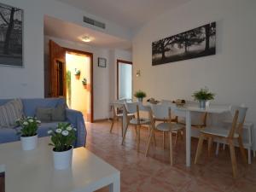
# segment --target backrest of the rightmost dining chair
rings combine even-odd
[[[235,133],[238,133],[241,136],[242,127],[246,118],[247,108],[232,106],[231,113],[233,113],[234,116],[232,120],[229,137],[234,137]]]

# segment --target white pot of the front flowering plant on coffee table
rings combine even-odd
[[[55,169],[67,169],[72,165],[73,147],[67,151],[53,152]]]

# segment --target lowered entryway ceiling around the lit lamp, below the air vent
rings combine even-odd
[[[44,16],[44,35],[110,49],[131,49],[130,41],[49,16]],[[92,41],[90,43],[82,42],[83,36],[89,36]]]

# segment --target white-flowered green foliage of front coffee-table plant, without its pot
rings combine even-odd
[[[55,152],[67,151],[72,148],[73,142],[76,140],[76,128],[73,128],[69,123],[59,123],[57,128],[48,131]]]

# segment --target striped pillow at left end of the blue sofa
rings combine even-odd
[[[23,116],[23,105],[20,99],[15,99],[0,106],[0,127],[14,127],[16,119]]]

